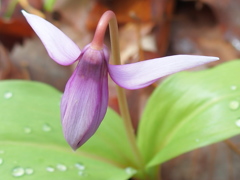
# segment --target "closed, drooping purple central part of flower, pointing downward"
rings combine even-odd
[[[108,105],[107,65],[103,52],[89,49],[80,57],[61,102],[64,136],[74,150],[95,133]]]

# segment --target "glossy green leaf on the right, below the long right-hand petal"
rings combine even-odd
[[[167,78],[143,112],[138,144],[148,167],[240,133],[240,61]]]

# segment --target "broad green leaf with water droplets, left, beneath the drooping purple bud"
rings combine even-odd
[[[106,141],[91,144],[89,152],[73,152],[65,142],[60,125],[61,93],[54,88],[31,81],[0,82],[0,177],[34,180],[124,180],[135,172],[126,171],[114,159],[107,160],[91,149],[108,146]],[[98,134],[104,136],[109,120],[120,124],[120,118],[108,110]],[[104,127],[107,126],[107,127]],[[101,130],[103,129],[103,130]],[[103,131],[103,132],[102,132]],[[119,136],[123,133],[117,131]],[[124,135],[123,135],[124,137]],[[120,142],[118,142],[118,140]],[[125,139],[124,139],[125,140]],[[87,147],[87,145],[86,145]],[[126,152],[126,151],[125,151]],[[106,152],[111,154],[112,152]],[[122,152],[121,152],[122,153]],[[121,154],[120,153],[120,154]],[[102,153],[104,154],[104,153]],[[112,158],[112,156],[109,156]],[[118,159],[118,157],[116,157]],[[81,178],[82,177],[82,178]]]

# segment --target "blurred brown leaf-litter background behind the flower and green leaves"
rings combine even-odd
[[[60,91],[74,65],[52,61],[21,14],[44,17],[80,48],[92,40],[101,15],[116,13],[122,63],[174,54],[217,56],[211,68],[240,56],[240,0],[0,0],[0,79],[41,81]],[[110,48],[109,36],[105,43]],[[237,77],[236,77],[237,78]],[[154,88],[127,91],[134,127]],[[114,83],[109,106],[118,112]],[[240,179],[239,137],[195,150],[162,166],[164,180]]]

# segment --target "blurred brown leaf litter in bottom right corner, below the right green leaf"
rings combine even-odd
[[[239,138],[231,141],[239,144]],[[164,163],[161,172],[164,180],[238,180],[239,168],[240,155],[220,142]]]

